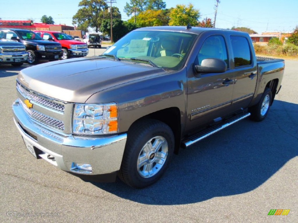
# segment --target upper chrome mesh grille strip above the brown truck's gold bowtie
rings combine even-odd
[[[18,81],[17,81],[17,90],[24,97],[29,99],[32,102],[35,102],[37,105],[44,107],[49,110],[53,110],[55,112],[64,113],[64,105],[55,103],[50,101],[50,99],[46,99],[40,95],[37,95],[35,92],[31,92],[28,89],[25,89]]]

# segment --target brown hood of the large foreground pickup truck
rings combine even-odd
[[[21,70],[17,79],[25,87],[43,95],[84,103],[96,92],[165,72],[161,68],[132,61],[94,56],[28,67]]]

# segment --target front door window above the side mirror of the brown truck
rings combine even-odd
[[[198,54],[199,65],[201,65],[202,60],[207,58],[222,59],[229,68],[224,37],[210,36],[205,40]]]

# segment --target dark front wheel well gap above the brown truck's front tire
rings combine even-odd
[[[175,137],[175,149],[174,153],[178,153],[180,144],[181,144],[181,115],[180,110],[177,107],[171,107],[163,110],[159,110],[157,112],[153,112],[148,114],[140,119],[136,120],[134,123],[143,119],[156,119],[165,124],[167,124],[173,131]],[[133,126],[134,123],[131,125]],[[131,127],[130,127],[131,128]],[[129,131],[129,130],[128,130]]]

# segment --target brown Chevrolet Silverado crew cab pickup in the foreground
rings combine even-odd
[[[103,55],[21,70],[15,124],[27,149],[79,176],[156,182],[174,153],[246,117],[262,121],[284,60],[243,32],[137,29]]]

